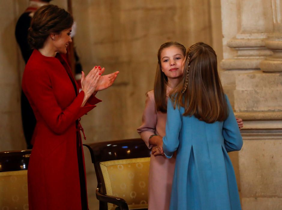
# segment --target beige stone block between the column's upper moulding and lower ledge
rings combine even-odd
[[[236,111],[282,110],[282,89],[235,90]]]

